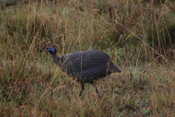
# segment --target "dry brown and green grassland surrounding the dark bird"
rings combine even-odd
[[[158,1],[158,0],[157,0]],[[0,11],[0,117],[174,117],[175,3],[58,0]],[[122,73],[101,93],[63,73],[45,51],[108,53]]]

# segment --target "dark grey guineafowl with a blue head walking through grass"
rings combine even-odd
[[[107,75],[115,72],[121,72],[111,60],[111,58],[104,52],[92,49],[85,51],[77,51],[68,53],[63,56],[57,56],[57,49],[48,47],[47,51],[53,58],[63,72],[68,76],[73,77],[81,84],[79,96],[82,95],[85,84],[94,84],[96,80],[102,79]],[[95,85],[96,93],[99,91]]]

